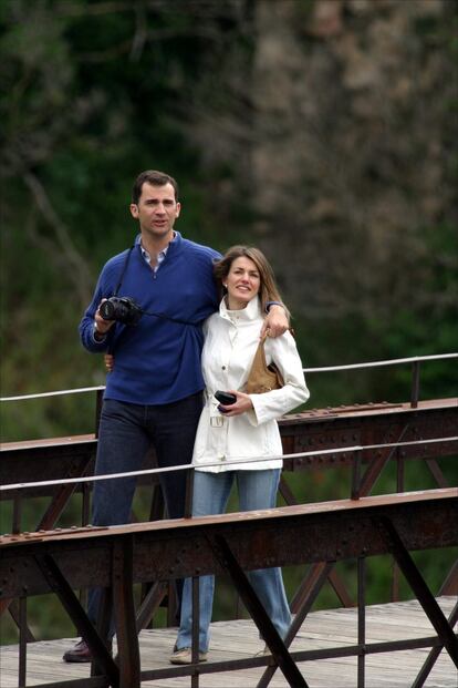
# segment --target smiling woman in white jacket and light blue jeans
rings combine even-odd
[[[235,480],[238,483],[240,511],[275,506],[282,460],[253,459],[282,453],[275,419],[309,398],[302,362],[290,332],[277,339],[267,339],[264,345],[267,362],[277,364],[284,387],[263,394],[241,391],[259,343],[266,304],[281,301],[272,269],[263,254],[257,248],[235,246],[216,264],[215,276],[225,296],[219,311],[210,316],[204,326],[201,362],[206,403],[192,458],[196,465],[194,516],[223,513]],[[220,404],[215,398],[217,390],[232,392],[237,401],[230,405]],[[230,460],[241,462],[237,466],[227,465]],[[281,569],[253,571],[248,573],[248,577],[278,633],[284,638],[291,614]],[[199,661],[207,659],[214,588],[214,576],[199,578]],[[171,664],[191,661],[191,578],[187,578]]]

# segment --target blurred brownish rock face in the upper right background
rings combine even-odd
[[[214,135],[225,154],[231,141],[252,240],[295,311],[368,316],[375,304],[433,298],[421,292],[428,237],[456,220],[454,3],[252,7],[253,52],[243,76],[232,74],[247,116],[237,130],[216,117]]]

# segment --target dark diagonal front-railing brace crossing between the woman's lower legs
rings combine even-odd
[[[305,679],[291,658],[283,640],[267,615],[246,573],[233,556],[226,538],[221,535],[217,535],[215,541],[210,541],[210,545],[220,564],[228,569],[237,592],[242,598],[254,624],[258,626],[260,634],[266,640],[289,685],[294,686],[294,688],[308,688]]]

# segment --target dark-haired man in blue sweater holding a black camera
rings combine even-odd
[[[159,468],[191,463],[205,388],[201,324],[219,306],[212,266],[220,256],[174,230],[180,210],[173,177],[156,171],[138,175],[131,214],[138,220],[139,235],[131,249],[106,263],[80,324],[89,351],[110,351],[116,358],[101,413],[96,475],[140,470],[150,444]],[[112,296],[138,304],[143,311],[138,322],[105,320],[100,308]],[[280,305],[272,304],[267,328],[271,336],[288,328]],[[94,525],[128,522],[135,482],[135,478],[95,482]],[[160,485],[168,516],[183,517],[185,471],[160,476]],[[98,602],[98,591],[90,591],[87,614],[93,623]],[[81,640],[63,658],[91,661],[91,653]]]

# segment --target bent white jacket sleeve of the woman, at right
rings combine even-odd
[[[310,397],[302,361],[290,332],[274,339],[268,338],[264,350],[268,364],[275,363],[282,374],[284,386],[263,394],[250,394],[253,411],[249,412],[248,417],[253,425],[280,418],[304,403]]]

